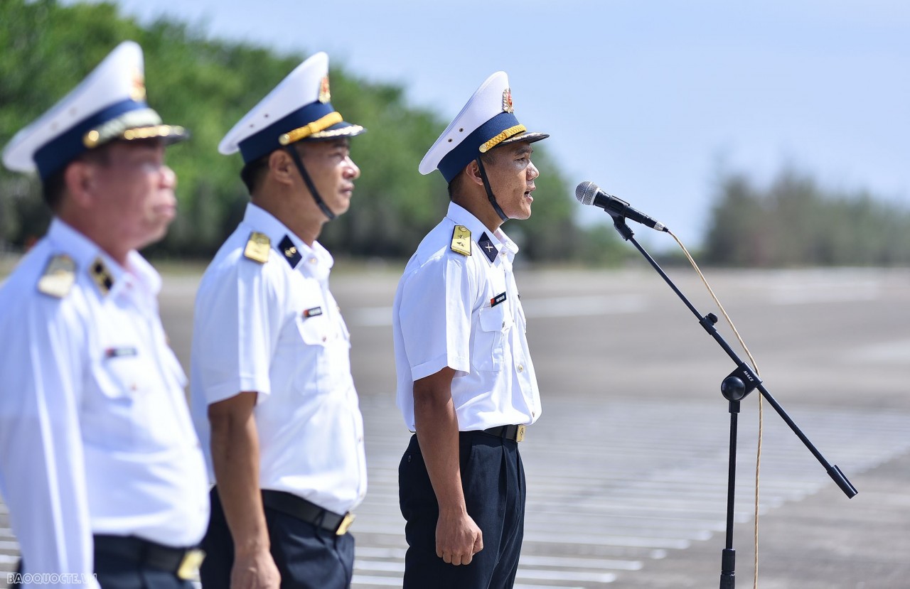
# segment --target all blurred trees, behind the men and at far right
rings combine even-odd
[[[149,103],[193,134],[168,151],[180,212],[167,238],[147,254],[206,259],[248,202],[240,156],[218,154],[218,141],[306,55],[209,39],[168,20],[139,25],[113,4],[2,0],[0,145],[126,39],[145,51]],[[417,172],[448,117],[407,105],[398,85],[368,83],[337,66],[330,78],[332,104],[369,132],[352,142],[362,172],[353,206],[326,226],[320,242],[337,255],[407,258],[448,206],[441,176]],[[506,225],[526,259],[616,265],[636,257],[610,225],[579,225],[573,187],[546,144],[538,145],[534,215]],[[826,191],[793,170],[761,189],[732,173],[717,183],[714,203],[700,254],[717,265],[910,264],[910,210],[863,191]],[[33,243],[49,218],[35,177],[0,169],[0,251]]]

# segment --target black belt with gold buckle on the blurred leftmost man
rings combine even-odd
[[[95,553],[115,556],[157,571],[173,573],[181,579],[196,576],[206,554],[197,548],[174,548],[136,536],[96,534]]]

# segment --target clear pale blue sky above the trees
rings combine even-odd
[[[572,186],[601,185],[688,245],[723,171],[764,184],[793,165],[910,204],[910,3],[116,3],[143,22],[169,15],[280,52],[326,51],[447,120],[505,70],[516,115],[551,134]],[[606,217],[579,206],[583,220]]]

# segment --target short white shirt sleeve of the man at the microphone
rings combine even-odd
[[[401,293],[399,321],[415,381],[449,366],[470,373],[470,314],[477,290],[470,267],[443,255],[420,266]]]

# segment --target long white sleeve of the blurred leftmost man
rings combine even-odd
[[[96,586],[78,420],[85,346],[61,307],[37,298],[5,318],[15,344],[0,354],[0,492],[24,573],[66,574],[74,583],[55,586],[85,589]]]

